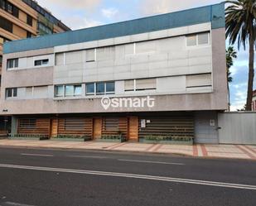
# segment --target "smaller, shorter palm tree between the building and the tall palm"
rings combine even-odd
[[[230,90],[229,83],[233,81],[233,77],[231,77],[230,68],[234,65],[234,59],[237,58],[237,52],[234,50],[233,46],[229,46],[226,50],[226,68],[227,68],[227,79],[228,79],[228,92],[229,92],[229,111],[230,111]]]

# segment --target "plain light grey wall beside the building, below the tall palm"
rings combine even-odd
[[[219,113],[222,144],[256,145],[256,113]]]

